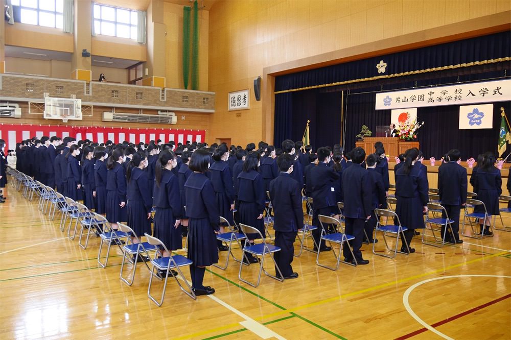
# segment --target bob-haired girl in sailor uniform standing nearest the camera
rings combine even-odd
[[[215,289],[204,286],[205,266],[218,262],[215,233],[219,232],[220,217],[212,182],[205,173],[210,162],[210,153],[199,149],[192,154],[189,167],[193,171],[184,184],[184,197],[189,218],[188,258],[192,289],[196,295],[215,293]]]

